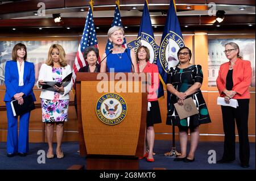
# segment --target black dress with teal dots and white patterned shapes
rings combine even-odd
[[[185,92],[195,82],[203,83],[203,71],[201,65],[192,65],[186,69],[180,69],[177,66],[168,71],[168,81],[179,92]],[[197,90],[193,94],[187,96],[191,97],[199,110],[199,113],[185,119],[179,118],[174,104],[177,103],[177,96],[170,94],[170,102],[168,104],[167,123],[168,125],[178,125],[179,127],[197,127],[200,124],[210,123],[210,116],[207,109],[207,104],[204,101],[201,90]]]

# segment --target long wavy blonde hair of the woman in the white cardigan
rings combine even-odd
[[[48,52],[48,59],[46,60],[46,65],[49,65],[49,66],[53,66],[53,60],[52,60],[52,56],[51,56],[51,53],[52,53],[52,50],[53,49],[57,49],[59,50],[59,61],[60,61],[60,66],[61,67],[65,67],[67,66],[67,60],[65,58],[66,54],[65,54],[65,50],[63,49],[63,47],[61,47],[61,45],[59,44],[53,44],[51,45],[51,47],[49,48],[49,52]]]

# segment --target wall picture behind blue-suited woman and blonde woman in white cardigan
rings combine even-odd
[[[77,40],[40,40],[40,41],[0,41],[0,86],[5,85],[5,64],[11,60],[11,52],[17,43],[27,47],[27,61],[35,65],[35,78],[38,81],[41,65],[47,60],[48,50],[52,44],[60,44],[66,53],[68,64],[73,66],[79,46]]]

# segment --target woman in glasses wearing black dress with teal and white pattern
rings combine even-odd
[[[181,155],[174,161],[193,162],[195,151],[199,142],[199,125],[210,123],[210,117],[200,87],[203,83],[203,71],[201,65],[193,65],[192,53],[187,47],[180,48],[177,52],[179,64],[168,71],[167,90],[171,93],[168,104],[167,124],[177,125],[179,128],[179,140]],[[199,113],[180,119],[174,104],[183,105],[183,100],[192,98]],[[187,155],[188,129],[190,130],[191,148]]]

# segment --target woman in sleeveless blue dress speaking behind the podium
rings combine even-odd
[[[106,60],[101,62],[101,72],[138,72],[135,53],[133,50],[122,47],[125,31],[122,27],[113,26],[108,31],[108,38],[113,48],[102,55]]]

